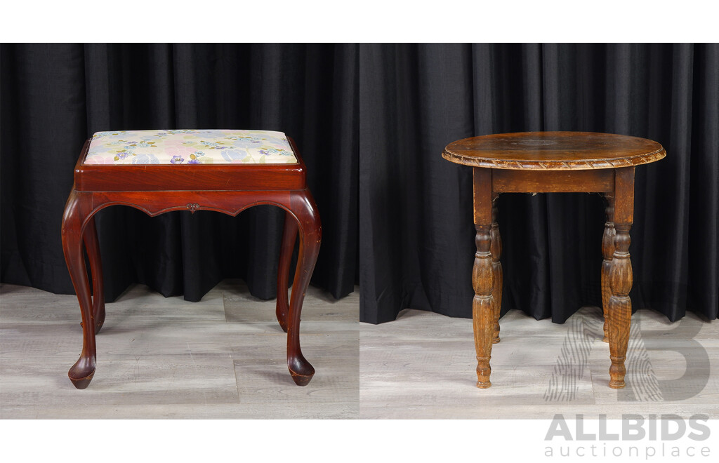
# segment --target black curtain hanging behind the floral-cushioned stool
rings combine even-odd
[[[60,243],[83,141],[96,131],[260,128],[292,136],[323,225],[312,283],[357,278],[357,46],[2,45],[1,281],[71,294]],[[112,301],[134,281],[198,301],[239,276],[276,294],[284,213],[237,218],[115,206],[96,215]]]

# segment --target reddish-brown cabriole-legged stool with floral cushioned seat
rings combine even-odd
[[[314,375],[300,349],[300,313],[321,241],[319,213],[297,146],[282,132],[254,130],[150,130],[98,132],[75,165],[63,215],[63,251],[80,302],[83,349],[68,376],[84,389],[95,374],[95,335],[105,320],[100,248],[93,216],[128,205],[155,216],[172,210],[214,210],[237,215],[254,205],[285,210],[276,314],[287,332],[292,379]],[[297,270],[288,302],[290,262],[300,235]],[[92,295],[83,257],[90,262]]]

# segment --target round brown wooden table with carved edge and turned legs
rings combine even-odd
[[[610,388],[623,388],[632,286],[629,229],[634,169],[667,155],[656,141],[592,132],[522,132],[475,136],[446,146],[442,157],[473,167],[477,235],[472,270],[472,319],[477,387],[489,388],[492,344],[499,342],[502,242],[495,201],[510,192],[598,192],[607,221],[602,240],[604,341],[609,342]]]

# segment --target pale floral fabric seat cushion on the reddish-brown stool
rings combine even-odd
[[[84,164],[296,164],[287,136],[264,130],[98,132]]]

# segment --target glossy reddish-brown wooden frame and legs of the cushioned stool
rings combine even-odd
[[[289,139],[289,137],[288,137]],[[305,291],[321,243],[319,213],[306,184],[306,167],[292,139],[296,164],[192,164],[192,165],[92,165],[83,160],[86,141],[75,166],[75,184],[63,216],[65,261],[78,295],[83,325],[83,349],[68,376],[78,389],[86,388],[96,370],[96,332],[105,319],[102,269],[93,216],[111,205],[127,205],[155,216],[174,210],[213,210],[237,215],[247,207],[275,205],[285,210],[285,230],[278,270],[277,314],[288,333],[287,365],[291,378],[306,385],[314,375],[302,355],[300,319]],[[290,301],[288,273],[296,235],[300,252]],[[93,296],[87,278],[83,241],[93,280]]]

